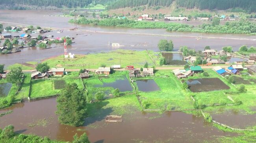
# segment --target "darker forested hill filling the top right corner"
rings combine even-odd
[[[176,0],[179,7],[186,7],[188,9],[219,9],[225,10],[235,7],[248,10],[249,12],[256,11],[256,0]]]

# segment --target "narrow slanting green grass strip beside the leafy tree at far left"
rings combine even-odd
[[[15,100],[25,99],[28,98],[30,92],[30,81],[31,81],[31,74],[25,74],[23,83],[20,87],[20,91],[15,96]]]

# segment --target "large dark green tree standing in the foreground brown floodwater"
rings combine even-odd
[[[85,119],[85,96],[82,91],[78,89],[76,83],[67,85],[57,97],[57,111],[58,119],[61,124],[71,126],[81,126]]]

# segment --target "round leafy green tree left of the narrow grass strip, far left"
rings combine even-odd
[[[16,84],[17,87],[22,83],[23,73],[21,67],[14,67],[7,74],[6,79],[8,82]]]

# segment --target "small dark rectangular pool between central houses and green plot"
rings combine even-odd
[[[154,80],[136,80],[139,91],[158,91],[159,87]]]

